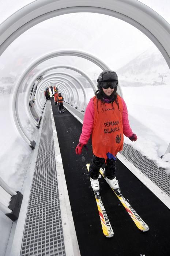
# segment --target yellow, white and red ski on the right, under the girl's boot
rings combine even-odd
[[[106,180],[105,172],[102,168],[100,168],[100,173],[103,176],[103,178]],[[114,189],[112,188],[114,191]],[[133,222],[135,222],[138,229],[140,229],[143,232],[146,232],[149,230],[148,225],[143,221],[143,219],[140,218],[140,216],[137,214],[137,212],[132,208],[132,206],[128,203],[128,201],[125,199],[124,196],[122,196],[120,189],[117,191],[115,190],[114,193],[122,203],[122,205],[125,207],[128,214],[131,216]]]

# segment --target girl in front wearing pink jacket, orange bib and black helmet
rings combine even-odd
[[[103,71],[97,79],[98,90],[90,99],[84,114],[82,134],[76,146],[76,154],[92,135],[93,158],[89,175],[91,187],[99,191],[99,169],[105,163],[106,181],[113,189],[119,189],[116,180],[116,155],[123,149],[124,135],[131,141],[137,136],[132,132],[128,120],[128,110],[123,98],[117,94],[118,76],[114,71]]]

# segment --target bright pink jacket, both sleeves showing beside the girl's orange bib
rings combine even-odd
[[[129,125],[128,120],[128,109],[126,107],[126,103],[123,98],[121,98],[123,104],[123,133],[126,137],[131,137],[133,132]],[[87,144],[90,139],[90,135],[92,133],[94,122],[94,104],[93,99],[91,98],[86,107],[86,112],[84,114],[82,134],[80,135],[79,142],[82,144]]]

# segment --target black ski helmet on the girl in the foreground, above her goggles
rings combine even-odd
[[[98,76],[98,79],[97,79],[97,88],[98,90],[100,90],[101,88],[101,82],[114,82],[114,81],[117,81],[118,82],[118,76],[116,74],[115,71],[112,71],[112,70],[106,70],[106,71],[103,71],[99,76]]]

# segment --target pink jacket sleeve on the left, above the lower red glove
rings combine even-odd
[[[88,140],[90,139],[90,135],[92,133],[93,122],[94,122],[94,105],[93,105],[93,99],[90,99],[86,107],[86,112],[84,114],[82,134],[80,135],[80,139],[79,139],[80,143],[87,144]]]

